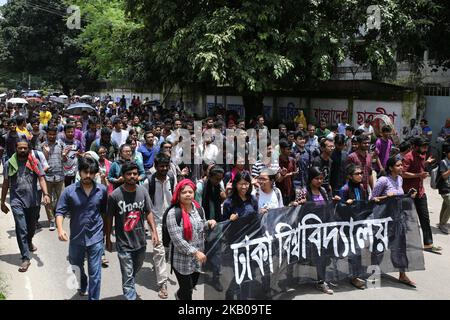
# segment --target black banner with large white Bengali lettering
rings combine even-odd
[[[409,197],[352,205],[308,202],[222,222],[208,235],[206,252],[205,299],[282,299],[288,288],[307,282],[424,270]]]

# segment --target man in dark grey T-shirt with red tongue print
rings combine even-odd
[[[127,300],[136,300],[136,274],[144,263],[146,251],[145,220],[151,228],[154,248],[159,246],[159,238],[150,211],[150,196],[144,187],[137,185],[139,172],[136,163],[124,163],[122,177],[124,184],[114,190],[108,198],[106,249],[112,251],[110,237],[114,217],[123,294]]]

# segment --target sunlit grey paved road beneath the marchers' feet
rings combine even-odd
[[[428,186],[428,181],[426,182]],[[396,281],[397,274],[385,275],[381,279],[381,289],[354,289],[346,282],[340,282],[335,294],[328,296],[315,290],[313,285],[302,285],[296,291],[287,292],[283,299],[324,300],[324,299],[448,299],[450,298],[450,238],[437,228],[441,207],[441,197],[436,190],[427,189],[431,212],[434,242],[444,248],[441,256],[432,253],[425,255],[425,271],[410,272],[411,279],[417,282],[417,289],[406,287]],[[57,239],[56,231],[48,230],[45,211],[41,210],[41,224],[44,228],[36,234],[34,243],[38,247],[28,272],[17,271],[20,254],[14,232],[11,214],[0,214],[0,271],[8,285],[8,299],[86,299],[79,297],[74,290],[73,276],[67,261],[68,243]],[[65,221],[68,231],[68,221]],[[123,299],[121,273],[117,253],[107,253],[110,267],[102,273],[102,299]],[[144,300],[158,300],[156,278],[152,264],[152,248],[147,247],[143,269],[137,277],[137,292]],[[174,299],[177,289],[175,275],[170,275],[169,299]],[[202,287],[194,291],[194,299],[202,300]]]

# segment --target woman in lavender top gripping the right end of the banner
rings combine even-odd
[[[375,201],[381,201],[390,197],[401,196],[404,194],[403,192],[403,178],[401,176],[403,171],[403,163],[402,157],[400,155],[396,155],[391,157],[386,162],[386,176],[380,177],[375,183],[372,199]],[[409,194],[414,198],[416,196],[416,190],[411,189]],[[404,268],[400,268],[400,270],[404,270]],[[400,271],[400,276],[398,279],[401,283],[404,283],[410,287],[415,288],[416,283],[410,280],[406,272]]]

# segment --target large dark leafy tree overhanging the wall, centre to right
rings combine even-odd
[[[440,1],[442,2],[442,1]],[[375,79],[395,73],[395,53],[418,57],[436,1],[378,1],[381,28],[364,35],[372,1],[126,0],[145,60],[166,83],[230,85],[261,112],[267,90],[311,86],[346,57],[368,64]],[[411,43],[411,41],[413,41]]]

